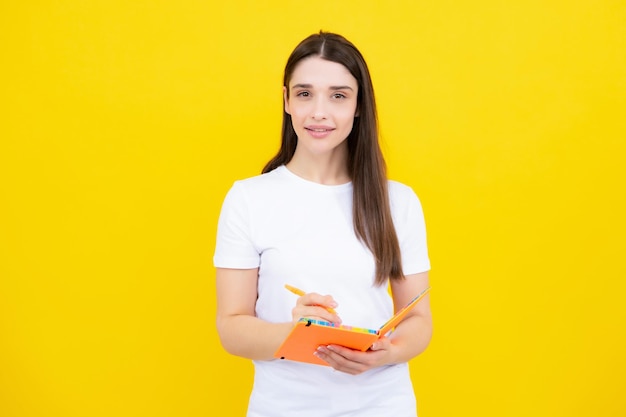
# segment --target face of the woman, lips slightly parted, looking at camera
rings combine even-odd
[[[357,108],[357,80],[348,69],[319,57],[296,65],[285,87],[285,111],[298,136],[297,153],[345,152]]]

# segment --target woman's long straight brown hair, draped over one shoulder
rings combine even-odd
[[[354,231],[374,255],[376,284],[402,279],[402,260],[398,236],[391,218],[387,170],[378,143],[378,116],[374,87],[369,69],[359,50],[341,35],[320,32],[304,39],[287,60],[283,85],[298,63],[312,56],[337,62],[350,71],[358,83],[357,112],[348,135],[348,173],[352,180]],[[284,111],[280,150],[263,168],[263,173],[288,163],[296,151],[298,137],[291,116]]]

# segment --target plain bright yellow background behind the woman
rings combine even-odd
[[[216,221],[319,29],[368,60],[424,205],[420,416],[626,415],[625,22],[617,0],[3,2],[0,415],[244,414]]]

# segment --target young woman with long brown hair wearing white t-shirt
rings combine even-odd
[[[222,345],[255,365],[248,416],[415,416],[407,361],[430,341],[428,297],[366,352],[311,352],[329,366],[273,357],[302,317],[379,327],[430,269],[420,202],[386,178],[361,53],[340,35],[306,38],[283,95],[281,148],[228,192],[214,256]]]

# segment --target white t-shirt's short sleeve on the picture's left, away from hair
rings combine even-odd
[[[217,268],[250,269],[260,264],[252,241],[250,204],[244,187],[235,183],[226,194],[217,223],[213,264]]]

